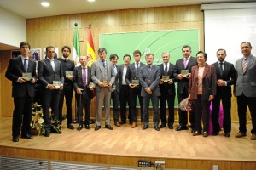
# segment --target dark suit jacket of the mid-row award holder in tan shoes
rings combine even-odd
[[[131,84],[132,80],[139,80],[139,70],[145,66],[142,62],[140,62],[140,67],[138,68],[138,71],[135,67],[135,63],[132,63],[128,66],[125,76],[125,82],[129,85]],[[139,82],[140,83],[140,82]]]

